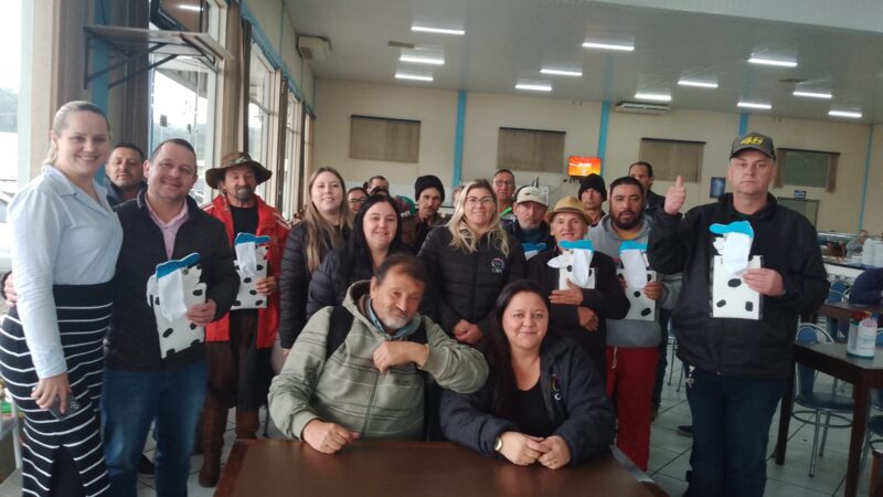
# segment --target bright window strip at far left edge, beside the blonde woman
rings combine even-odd
[[[9,22],[0,31],[0,191],[18,191],[19,170],[19,84],[21,80],[22,22],[21,0],[4,3],[3,11]],[[28,178],[23,178],[23,182]],[[6,215],[3,215],[6,219]]]

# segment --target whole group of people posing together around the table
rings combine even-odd
[[[205,172],[219,195],[200,208],[190,144],[146,159],[109,144],[100,109],[66,104],[42,175],[10,205],[18,300],[0,373],[25,414],[26,493],[135,495],[151,424],[158,495],[185,495],[194,445],[200,484],[214,486],[228,410],[236,436],[255,437],[265,403],[283,434],[328,454],[361,438],[449,440],[558,469],[615,442],[647,469],[673,309],[689,494],[763,494],[797,316],[827,293],[813,229],[767,193],[768,137],[737,138],[733,192],[685,216],[683,181],[653,193],[647,162],[609,189],[593,175],[552,209],[501,169],[458,188],[450,216],[435,176],[417,178],[415,204],[383,177],[347,191],[321,167],[290,229],[255,193],[272,172],[247,154]],[[109,191],[94,180],[105,162]],[[759,318],[713,313],[714,262],[738,258],[714,226],[733,222],[753,229],[743,255],[762,261],[730,286],[760,296]],[[167,303],[188,272],[198,304]],[[158,322],[174,313],[204,340],[163,349],[179,330]]]

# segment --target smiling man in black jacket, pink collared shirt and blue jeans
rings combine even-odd
[[[185,495],[196,421],[205,395],[201,341],[162,351],[163,337],[147,286],[157,265],[199,254],[205,303],[190,306],[191,329],[224,316],[240,277],[221,221],[203,212],[188,192],[196,182],[193,147],[180,139],[160,144],[145,163],[148,189],[119,208],[123,247],[114,279],[115,302],[105,342],[102,422],[114,495],[134,495],[136,468],[156,421],[157,493]],[[200,290],[198,290],[200,292]],[[155,305],[160,305],[153,299]]]

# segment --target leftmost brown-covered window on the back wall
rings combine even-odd
[[[419,120],[351,117],[350,159],[417,162],[419,154]]]

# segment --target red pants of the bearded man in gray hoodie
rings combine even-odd
[[[650,459],[650,398],[659,348],[607,347],[607,396],[616,402],[616,446],[639,468]]]

